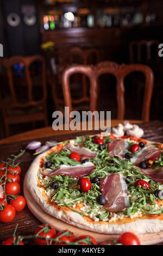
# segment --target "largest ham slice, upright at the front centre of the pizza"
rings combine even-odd
[[[100,180],[100,188],[106,198],[104,208],[111,212],[125,210],[129,204],[127,184],[122,174],[111,174]]]

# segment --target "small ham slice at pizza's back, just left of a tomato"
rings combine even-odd
[[[118,156],[121,159],[124,158],[125,153],[127,152],[128,143],[124,139],[115,139],[112,142],[108,143],[109,156]]]

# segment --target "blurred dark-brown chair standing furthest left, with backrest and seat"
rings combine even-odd
[[[34,62],[41,64],[40,79],[34,76]],[[17,73],[14,69],[14,65],[18,63],[23,66],[21,75],[20,72]],[[47,126],[47,89],[44,59],[41,56],[1,58],[0,66],[0,76],[3,79],[1,79],[0,88],[0,108],[3,114],[6,136],[9,136],[9,126],[14,124],[35,124],[36,121],[43,121]],[[6,71],[5,78],[4,70]],[[34,88],[36,83],[37,89]]]

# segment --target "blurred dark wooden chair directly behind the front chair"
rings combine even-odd
[[[82,49],[80,47],[72,47],[70,49],[62,50],[58,53],[59,56],[59,65],[58,65],[58,81],[61,85],[61,74],[67,66],[74,64],[96,64],[99,62],[99,52],[95,48]],[[87,81],[85,75],[82,76],[82,81],[80,82],[80,77],[77,75],[73,79],[72,90],[77,92],[78,100],[72,99],[76,105],[79,105],[77,108],[87,108],[86,102],[90,101],[87,90]],[[64,106],[64,100],[58,96],[57,93],[57,80],[53,77],[52,81],[52,93],[54,99],[55,109],[60,109],[61,105]],[[82,84],[82,93],[80,90],[80,84]],[[75,95],[76,96],[76,95]],[[83,106],[81,106],[83,104]]]

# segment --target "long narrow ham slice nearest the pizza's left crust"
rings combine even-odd
[[[61,166],[51,170],[45,169],[42,172],[42,175],[55,176],[55,175],[67,175],[72,176],[73,178],[81,178],[87,175],[90,175],[96,167],[91,162],[86,162],[83,164],[77,164],[76,166],[66,166],[61,164]]]

